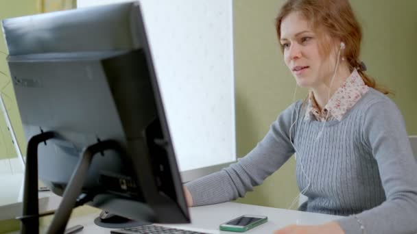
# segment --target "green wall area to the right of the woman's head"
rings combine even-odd
[[[351,3],[364,29],[362,60],[370,75],[394,91],[409,135],[417,135],[417,1]]]

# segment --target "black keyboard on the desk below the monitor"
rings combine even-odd
[[[189,230],[182,230],[182,229],[171,229],[165,226],[157,226],[157,225],[143,225],[143,226],[135,226],[132,228],[126,229],[119,229],[119,230],[112,230],[110,233],[113,234],[208,234],[208,233],[199,233],[197,231],[189,231]]]

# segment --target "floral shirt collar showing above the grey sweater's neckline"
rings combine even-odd
[[[305,113],[305,120],[342,120],[342,117],[350,108],[353,107],[361,99],[361,96],[368,92],[369,87],[366,86],[362,77],[353,70],[349,77],[344,81],[335,94],[331,97],[329,102],[324,106],[320,112],[317,102],[314,99],[313,91],[309,92],[307,112]]]

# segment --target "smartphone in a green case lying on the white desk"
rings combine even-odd
[[[253,229],[255,226],[259,226],[264,222],[267,222],[268,218],[266,216],[240,216],[224,224],[220,224],[220,230],[222,231],[235,231],[238,233],[243,233],[249,229]]]

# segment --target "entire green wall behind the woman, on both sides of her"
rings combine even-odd
[[[235,0],[237,153],[246,155],[292,102],[295,81],[278,47],[274,18],[283,0]],[[351,0],[364,29],[361,60],[368,74],[395,92],[407,131],[417,135],[417,1]],[[297,91],[298,99],[307,90]],[[288,208],[297,196],[295,161],[289,159],[240,203]]]

